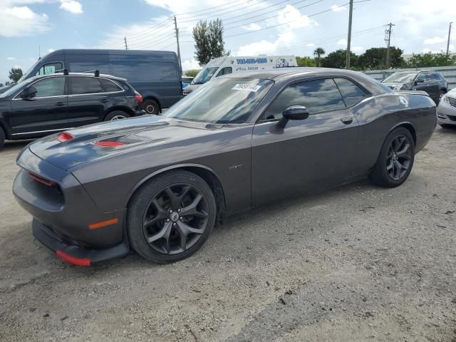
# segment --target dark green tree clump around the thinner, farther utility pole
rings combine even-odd
[[[402,57],[403,50],[390,47],[390,67],[399,68],[404,64]],[[358,68],[361,69],[381,69],[386,67],[386,48],[369,48],[358,58]]]

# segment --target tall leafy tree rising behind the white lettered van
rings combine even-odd
[[[204,66],[213,58],[229,56],[230,51],[224,50],[223,24],[220,19],[199,21],[193,28],[195,39],[195,58],[200,66]]]

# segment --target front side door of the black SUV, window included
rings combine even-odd
[[[33,138],[68,128],[68,96],[66,77],[43,78],[31,86],[36,94],[21,98],[21,93],[11,100],[11,133],[16,138]]]

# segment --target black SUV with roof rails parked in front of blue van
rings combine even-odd
[[[142,96],[124,78],[98,71],[36,76],[0,94],[0,148],[5,139],[39,138],[143,114]]]

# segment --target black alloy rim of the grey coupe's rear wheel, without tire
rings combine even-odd
[[[388,147],[386,172],[392,180],[400,180],[408,172],[412,148],[405,135],[397,135]]]

